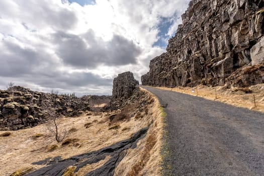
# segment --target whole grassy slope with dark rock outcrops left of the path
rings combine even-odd
[[[134,83],[130,86],[121,83],[115,89],[121,90],[120,87],[133,87],[133,90],[122,89],[131,93],[129,97],[124,99],[123,94],[118,94],[105,112],[85,111],[80,116],[57,118],[60,127],[66,129],[66,136],[60,142],[47,128],[49,123],[0,131],[3,144],[0,173],[159,175],[163,128],[159,102]],[[122,102],[118,109],[117,102]]]

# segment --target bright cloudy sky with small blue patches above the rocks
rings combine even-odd
[[[0,1],[0,89],[111,95],[165,52],[189,0]]]

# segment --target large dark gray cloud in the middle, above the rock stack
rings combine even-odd
[[[57,32],[54,40],[58,41],[57,54],[62,61],[75,67],[136,64],[136,57],[141,53],[133,41],[123,36],[114,35],[110,41],[104,41],[96,37],[93,30],[89,30],[82,37]]]

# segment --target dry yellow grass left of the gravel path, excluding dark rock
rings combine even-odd
[[[150,93],[148,93],[148,96],[152,98]],[[106,113],[97,113],[97,115],[87,113],[89,116],[62,118],[63,125],[67,127],[67,130],[71,130],[64,140],[73,141],[73,139],[78,139],[74,140],[76,142],[69,142],[67,145],[61,145],[63,141],[57,143],[54,136],[49,134],[45,125],[12,131],[12,135],[0,137],[0,153],[2,156],[0,158],[0,173],[1,175],[10,175],[20,168],[32,167],[32,162],[40,161],[47,157],[61,156],[62,158],[68,158],[73,155],[98,150],[127,139],[143,127],[149,126],[146,137],[139,140],[138,147],[129,149],[125,158],[117,166],[116,173],[119,174],[116,175],[126,175],[133,170],[133,167],[135,168],[134,164],[140,162],[140,159],[143,158],[142,156],[146,157],[143,158],[144,165],[140,167],[138,173],[159,175],[159,163],[161,160],[159,151],[163,117],[161,117],[158,100],[154,99],[154,103],[148,105],[147,115],[143,113],[142,118],[136,119],[133,117],[130,120],[117,122],[113,124],[119,127],[116,129],[109,130],[111,127],[109,126],[110,114]],[[89,128],[84,126],[87,123],[91,123]],[[7,131],[0,131],[0,134],[5,132]],[[155,142],[146,142],[150,138],[154,139]],[[142,151],[142,148],[144,148],[144,151]],[[144,153],[147,153],[147,155]],[[109,156],[98,163],[86,165],[79,169],[76,175],[84,175],[84,173],[103,165],[108,159]],[[34,165],[34,167],[37,169],[43,167],[43,165]]]

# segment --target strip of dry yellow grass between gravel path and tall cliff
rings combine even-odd
[[[259,112],[264,112],[264,84],[257,84],[249,87],[251,93],[247,93],[248,89],[232,88],[226,89],[226,86],[209,87],[198,85],[197,87],[157,87],[158,89],[175,91],[179,93],[189,94],[193,96],[203,97],[208,100],[219,101],[236,107],[247,108]],[[194,90],[194,92],[192,92]],[[216,96],[215,96],[216,91]],[[254,106],[254,97],[255,103]]]

